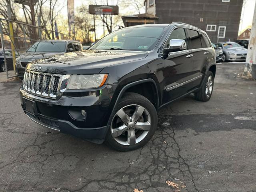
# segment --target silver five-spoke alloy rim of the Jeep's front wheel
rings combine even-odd
[[[135,145],[142,141],[151,128],[151,117],[144,107],[133,104],[116,112],[110,126],[111,135],[122,145]]]

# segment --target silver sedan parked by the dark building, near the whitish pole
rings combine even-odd
[[[247,49],[236,42],[220,42],[215,44],[223,50],[222,61],[245,61]]]

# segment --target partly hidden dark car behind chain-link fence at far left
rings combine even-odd
[[[13,70],[13,63],[12,63],[12,50],[11,49],[0,49],[0,72],[4,72],[6,70],[4,64],[4,52],[5,58],[7,62],[8,70]],[[18,52],[15,51],[15,57],[18,57]]]

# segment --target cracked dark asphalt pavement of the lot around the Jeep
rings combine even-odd
[[[218,64],[211,100],[162,108],[153,138],[131,152],[32,122],[21,82],[0,83],[0,191],[255,192],[256,81],[243,67]]]

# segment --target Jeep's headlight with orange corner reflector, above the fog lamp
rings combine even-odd
[[[108,74],[78,75],[73,74],[68,81],[67,89],[99,88],[104,85]]]

